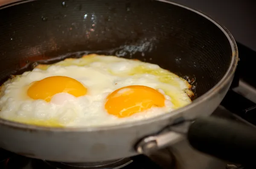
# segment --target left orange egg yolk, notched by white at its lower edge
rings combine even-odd
[[[58,93],[69,93],[75,97],[87,93],[87,88],[75,79],[66,76],[51,76],[32,82],[27,95],[32,99],[51,101],[52,96]]]

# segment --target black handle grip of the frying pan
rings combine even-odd
[[[189,127],[191,146],[217,158],[240,164],[256,163],[256,129],[216,117],[196,119]]]

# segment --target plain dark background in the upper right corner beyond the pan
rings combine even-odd
[[[170,0],[197,9],[226,26],[234,38],[256,51],[256,0]]]

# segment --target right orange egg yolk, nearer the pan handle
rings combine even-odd
[[[164,107],[164,96],[147,86],[126,86],[113,91],[107,97],[105,109],[119,118],[140,113],[151,107]]]

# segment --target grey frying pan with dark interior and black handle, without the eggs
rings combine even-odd
[[[3,149],[64,162],[150,154],[186,137],[196,149],[231,161],[248,161],[239,153],[234,157],[234,149],[255,150],[253,129],[202,118],[224,98],[238,63],[230,32],[206,15],[163,0],[29,0],[3,6],[0,16],[2,81],[38,63],[96,53],[160,65],[194,82],[196,94],[192,104],[172,113],[109,127],[38,127],[0,119]]]

